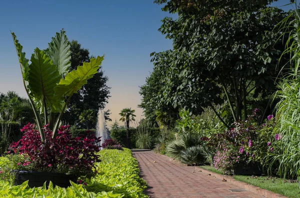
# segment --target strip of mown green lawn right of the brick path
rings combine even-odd
[[[217,174],[223,174],[222,172],[210,166],[200,166],[200,168]],[[299,184],[290,183],[288,180],[283,180],[280,178],[269,176],[234,176],[233,178],[235,180],[251,184],[261,189],[266,189],[268,191],[286,196],[288,198],[300,198]]]

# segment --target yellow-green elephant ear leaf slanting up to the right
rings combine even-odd
[[[91,58],[90,62],[84,62],[82,66],[78,66],[76,70],[66,74],[64,79],[60,79],[57,86],[54,88],[55,94],[58,97],[71,96],[76,93],[81,87],[87,83],[95,73],[97,73],[99,66],[104,56]]]

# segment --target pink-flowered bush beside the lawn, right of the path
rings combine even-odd
[[[230,130],[210,138],[209,145],[215,149],[215,169],[228,173],[235,166],[246,166],[249,163],[264,165],[264,157],[274,152],[274,140],[280,140],[280,135],[274,137],[272,134],[275,126],[273,115],[267,116],[262,125],[257,124],[257,118],[259,109],[255,109],[245,122],[234,122]]]

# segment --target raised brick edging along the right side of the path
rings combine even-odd
[[[159,155],[159,154],[157,154]],[[165,155],[161,155],[165,158],[168,158],[168,159],[171,159],[173,160],[172,158],[168,157],[168,156],[165,156]],[[181,164],[179,161],[176,161],[177,163]],[[211,171],[208,171],[206,169],[202,169],[200,167],[195,167],[195,170],[200,170],[202,171],[203,173],[205,174],[210,174],[211,176],[217,178],[217,179],[220,179],[220,180],[223,180],[225,179],[227,182],[229,182],[230,184],[233,184],[237,187],[240,187],[240,188],[243,188],[243,189],[246,189],[248,191],[251,191],[253,193],[256,193],[260,196],[264,196],[266,198],[288,198],[288,197],[285,197],[283,195],[279,195],[279,194],[276,194],[276,193],[273,193],[271,191],[268,191],[268,190],[265,190],[265,189],[261,189],[259,187],[255,187],[253,185],[250,185],[250,184],[247,184],[245,182],[240,182],[240,181],[237,181],[237,180],[234,180],[233,178],[229,177],[229,176],[225,176],[225,175],[220,175],[220,174],[217,174],[217,173],[214,173],[214,172],[211,172]]]

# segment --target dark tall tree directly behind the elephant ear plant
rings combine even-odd
[[[83,62],[88,62],[92,57],[89,55],[88,49],[81,48],[80,43],[76,40],[70,42],[70,51],[70,70],[76,69],[77,66],[82,65]],[[87,84],[85,84],[76,94],[73,94],[67,105],[63,122],[70,125],[79,124],[79,126],[83,128],[94,128],[96,122],[80,122],[80,120],[82,120],[83,112],[89,112],[88,115],[91,120],[95,120],[98,110],[105,107],[105,104],[110,97],[110,87],[106,85],[107,80],[108,77],[104,76],[103,71],[99,69],[93,78],[87,81]],[[80,114],[81,119],[79,118]]]

